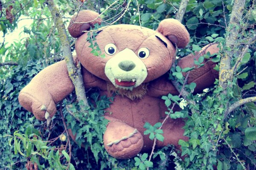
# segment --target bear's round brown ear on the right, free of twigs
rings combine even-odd
[[[189,33],[178,20],[165,19],[161,21],[157,31],[176,44],[178,48],[184,48],[189,43]]]

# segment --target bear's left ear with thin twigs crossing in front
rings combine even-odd
[[[74,15],[71,18],[68,31],[72,37],[77,38],[81,36],[81,34],[84,34],[83,31],[89,30],[90,27],[96,23],[100,24],[101,21],[102,19],[99,18],[97,12],[82,10],[79,11],[78,15]]]

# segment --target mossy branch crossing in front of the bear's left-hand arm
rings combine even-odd
[[[58,34],[61,41],[62,53],[67,63],[67,71],[68,71],[69,77],[72,80],[73,85],[75,86],[77,99],[79,102],[82,101],[85,106],[89,107],[85,90],[84,90],[84,83],[81,75],[81,66],[79,63],[76,65],[76,61],[74,61],[73,59],[72,52],[70,49],[70,42],[67,37],[67,31],[62,21],[60,12],[58,11],[58,8],[55,6],[55,3],[53,2],[53,0],[46,0],[45,3],[48,5],[49,11],[52,14],[52,18],[54,20],[55,26],[58,29]]]

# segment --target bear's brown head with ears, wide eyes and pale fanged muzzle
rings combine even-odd
[[[165,74],[175,59],[176,46],[189,42],[186,28],[175,19],[160,22],[156,31],[135,25],[111,25],[97,32],[96,43],[105,58],[95,57],[88,31],[102,20],[99,14],[84,10],[70,22],[69,32],[77,37],[76,54],[90,73],[116,88],[132,90]]]

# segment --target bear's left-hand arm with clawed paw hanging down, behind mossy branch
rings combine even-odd
[[[84,72],[86,88],[99,84],[96,78]],[[46,111],[52,117],[56,112],[56,103],[63,100],[72,91],[74,85],[68,75],[65,60],[40,71],[19,94],[20,105],[32,112],[39,120],[45,120]]]

